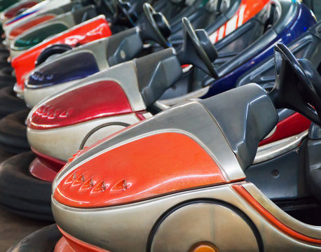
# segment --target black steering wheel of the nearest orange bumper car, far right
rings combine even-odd
[[[321,126],[321,77],[308,59],[296,59],[283,43],[274,48],[275,85],[269,93],[276,109],[287,108]]]

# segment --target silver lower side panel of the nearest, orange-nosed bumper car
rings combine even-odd
[[[254,187],[254,185],[252,186]],[[151,228],[157,223],[158,218],[169,209],[179,206],[179,204],[183,202],[197,202],[200,199],[212,200],[213,202],[225,202],[243,212],[245,216],[250,218],[259,231],[261,239],[263,240],[264,251],[320,251],[320,246],[304,244],[280,232],[280,230],[266,221],[266,219],[252,209],[243,198],[235,193],[231,185],[189,190],[152,200],[145,200],[143,202],[100,209],[66,207],[53,199],[52,209],[57,225],[77,239],[115,252],[146,251]],[[269,201],[268,203],[278,208],[273,202]],[[200,213],[208,210],[207,204],[203,204],[203,206],[200,204],[197,205],[197,203],[195,204]],[[224,237],[224,242],[231,244],[231,248],[233,248],[233,244],[237,241],[240,246],[238,251],[257,251],[257,240],[253,238],[254,236],[252,232],[250,232],[249,225],[245,225],[243,221],[235,216],[235,213],[224,210],[225,209],[217,209],[217,211],[211,210],[210,220],[207,218],[208,214],[210,214],[209,211],[207,211],[205,216],[198,215],[198,218],[195,218],[196,213],[194,211],[185,211],[184,215],[187,220],[184,218],[184,220],[186,220],[184,223],[179,221],[179,216],[170,214],[165,218],[165,221],[171,221],[171,223],[165,223],[164,221],[159,225],[158,230],[156,230],[151,251],[186,251],[184,248],[191,247],[195,244],[196,240],[208,241],[208,239],[210,239],[209,241],[214,243],[216,241],[215,237],[217,236]],[[175,214],[175,211],[173,214]],[[192,215],[189,216],[189,214]],[[287,217],[292,218],[290,216]],[[198,232],[194,233],[192,230],[186,230],[186,225],[190,224],[188,218],[194,220],[192,223],[193,228],[196,228]],[[217,221],[217,223],[223,226],[204,226],[205,223],[209,221],[211,223],[211,220]],[[164,223],[165,225],[163,225]],[[302,223],[302,225],[305,224]],[[79,232],[79,229],[81,229],[81,232]],[[224,230],[224,233],[220,233],[221,230]],[[172,235],[172,237],[168,237],[166,232]],[[243,235],[235,237],[235,233],[242,234],[242,232]],[[193,234],[193,239],[185,239],[190,237],[189,235],[191,233]],[[320,233],[320,231],[315,232],[315,234],[318,233]],[[182,235],[184,236],[182,237]],[[170,239],[173,243],[169,242],[167,244],[167,240],[163,239]],[[179,244],[182,244],[182,240],[186,243],[183,248],[179,247]],[[244,247],[243,242],[245,244]],[[252,249],[249,250],[248,248]],[[226,248],[226,250],[222,249],[219,251],[235,250]]]

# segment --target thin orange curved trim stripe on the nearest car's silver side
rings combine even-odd
[[[308,244],[316,244],[321,245],[321,239],[315,239],[313,237],[308,237],[306,235],[303,235],[299,232],[296,232],[296,230],[293,230],[292,228],[287,227],[284,223],[279,221],[277,218],[273,216],[268,210],[266,210],[262,205],[257,202],[257,200],[254,199],[250,193],[247,192],[245,188],[243,188],[242,185],[234,185],[232,188],[235,190],[236,193],[238,193],[243,199],[247,202],[247,204],[250,204],[250,206],[255,209],[261,216],[266,218],[266,220],[271,223],[275,228],[278,228],[281,232],[285,233],[286,235],[289,235],[290,237],[293,237],[294,239],[297,239],[299,241],[306,242]]]

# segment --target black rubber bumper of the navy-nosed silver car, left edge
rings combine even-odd
[[[25,120],[29,109],[12,113],[0,120],[0,148],[9,153],[30,151]]]

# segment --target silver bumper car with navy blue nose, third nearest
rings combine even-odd
[[[233,6],[231,8],[233,8]],[[64,52],[62,55],[55,57],[55,59],[50,59],[48,62],[45,62],[46,57],[48,57],[46,56],[47,53],[43,52],[37,59],[37,64],[40,64],[40,66],[36,67],[36,69],[30,73],[23,89],[22,96],[27,106],[32,108],[50,94],[69,87],[76,83],[76,81],[86,78],[93,73],[104,71],[116,64],[152,52],[153,50],[150,48],[149,50],[143,50],[144,43],[147,41],[155,41],[163,48],[174,46],[168,42],[168,40],[170,41],[172,38],[172,36],[170,36],[172,29],[167,27],[165,22],[162,21],[162,18],[158,17],[158,15],[161,14],[157,14],[150,5],[144,6],[144,13],[146,21],[142,22],[142,25],[120,32],[114,36],[79,46],[73,50]],[[153,18],[153,15],[156,15],[156,19]],[[218,18],[218,21],[221,19],[224,20],[224,17]],[[196,21],[199,20],[194,18],[194,22]],[[214,22],[213,26],[217,27],[217,23]],[[208,25],[207,29],[210,28],[212,28],[212,26]],[[226,36],[228,35],[226,34]],[[50,50],[50,48],[47,50]],[[105,53],[102,53],[102,51]],[[84,58],[86,58],[88,62],[86,66],[82,64],[81,59]],[[71,69],[68,67],[71,65],[71,62],[79,62],[79,64],[74,64],[74,67]],[[41,76],[51,75],[53,75],[53,78],[55,78],[56,75],[60,76],[60,78],[59,80],[47,81],[47,83],[46,80],[39,83]]]

